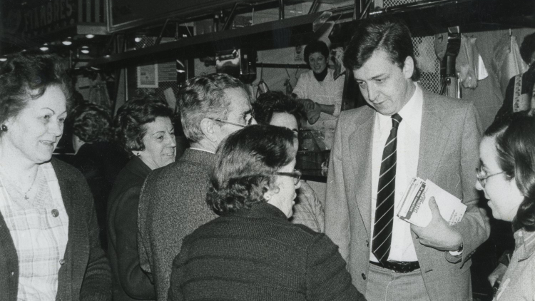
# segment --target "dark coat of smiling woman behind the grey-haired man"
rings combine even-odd
[[[132,157],[117,176],[108,202],[108,258],[113,275],[113,301],[156,300],[156,288],[139,264],[138,204],[143,182],[151,173]]]

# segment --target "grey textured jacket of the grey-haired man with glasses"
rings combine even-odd
[[[185,235],[217,218],[206,205],[215,155],[191,148],[180,159],[153,170],[143,185],[138,207],[141,268],[150,272],[158,301],[167,300],[173,258]]]

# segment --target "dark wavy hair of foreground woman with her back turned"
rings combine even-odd
[[[265,202],[276,189],[275,172],[295,158],[293,132],[269,125],[248,126],[220,144],[208,205],[218,215]]]

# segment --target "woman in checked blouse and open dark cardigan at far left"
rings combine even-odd
[[[56,56],[17,54],[0,68],[2,300],[111,299],[91,191],[52,158],[70,101]]]

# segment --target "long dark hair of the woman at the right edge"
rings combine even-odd
[[[484,136],[496,139],[496,160],[524,195],[514,227],[535,231],[535,117],[514,113],[494,121]]]

